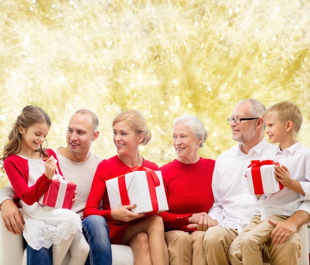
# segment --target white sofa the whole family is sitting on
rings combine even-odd
[[[303,225],[299,235],[302,240],[302,256],[299,265],[309,265],[308,226]],[[63,265],[68,263],[68,256]],[[8,232],[1,220],[0,211],[0,265],[26,265],[23,237]],[[133,265],[133,253],[129,246],[112,244],[112,265]],[[266,265],[266,263],[264,263]]]

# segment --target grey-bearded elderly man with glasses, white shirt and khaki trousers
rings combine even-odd
[[[264,111],[261,102],[245,99],[237,104],[232,117],[227,119],[233,140],[239,143],[218,156],[212,178],[214,204],[208,217],[202,218],[198,224],[198,229],[206,230],[203,240],[208,265],[230,264],[228,256],[239,252],[238,234],[254,217],[258,200],[250,195],[245,172],[251,160],[273,159],[277,147],[264,137]],[[309,219],[307,212],[297,211],[288,220],[274,223],[272,241],[285,242],[298,226]],[[270,255],[279,244],[274,246]],[[299,249],[300,246],[296,246],[294,251],[298,253]]]

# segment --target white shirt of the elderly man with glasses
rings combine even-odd
[[[254,217],[258,202],[256,196],[250,194],[246,170],[252,160],[273,160],[277,146],[264,137],[248,154],[240,148],[241,143],[216,159],[212,178],[214,204],[208,213],[218,225],[238,229],[239,233]]]

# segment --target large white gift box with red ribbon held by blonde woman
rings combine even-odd
[[[111,209],[136,204],[131,212],[161,213],[168,211],[161,171],[135,167],[131,172],[105,181]]]

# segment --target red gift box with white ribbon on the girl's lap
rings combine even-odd
[[[55,208],[71,209],[75,190],[76,184],[57,174],[52,177],[52,182],[47,191],[40,197],[39,203]]]

